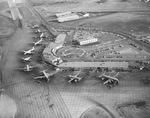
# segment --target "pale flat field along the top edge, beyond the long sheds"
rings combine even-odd
[[[50,12],[65,12],[65,11],[138,11],[149,10],[149,4],[137,0],[28,0],[34,6],[44,5]],[[89,9],[90,8],[90,9]]]

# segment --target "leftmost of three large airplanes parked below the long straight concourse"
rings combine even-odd
[[[49,82],[50,77],[53,76],[53,75],[55,75],[59,70],[56,69],[56,71],[54,71],[52,73],[47,73],[46,71],[47,70],[41,71],[42,72],[42,76],[34,77],[34,80],[36,80],[36,79],[44,79],[45,78],[45,79],[47,79],[47,82]]]

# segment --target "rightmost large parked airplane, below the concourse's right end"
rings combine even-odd
[[[99,76],[99,78],[101,78],[104,85],[107,84],[109,87],[113,87],[115,85],[118,85],[118,83],[119,83],[119,80],[117,78],[118,74],[119,74],[119,72],[115,76],[109,76],[109,75],[105,75],[105,73],[103,73],[102,75]]]

